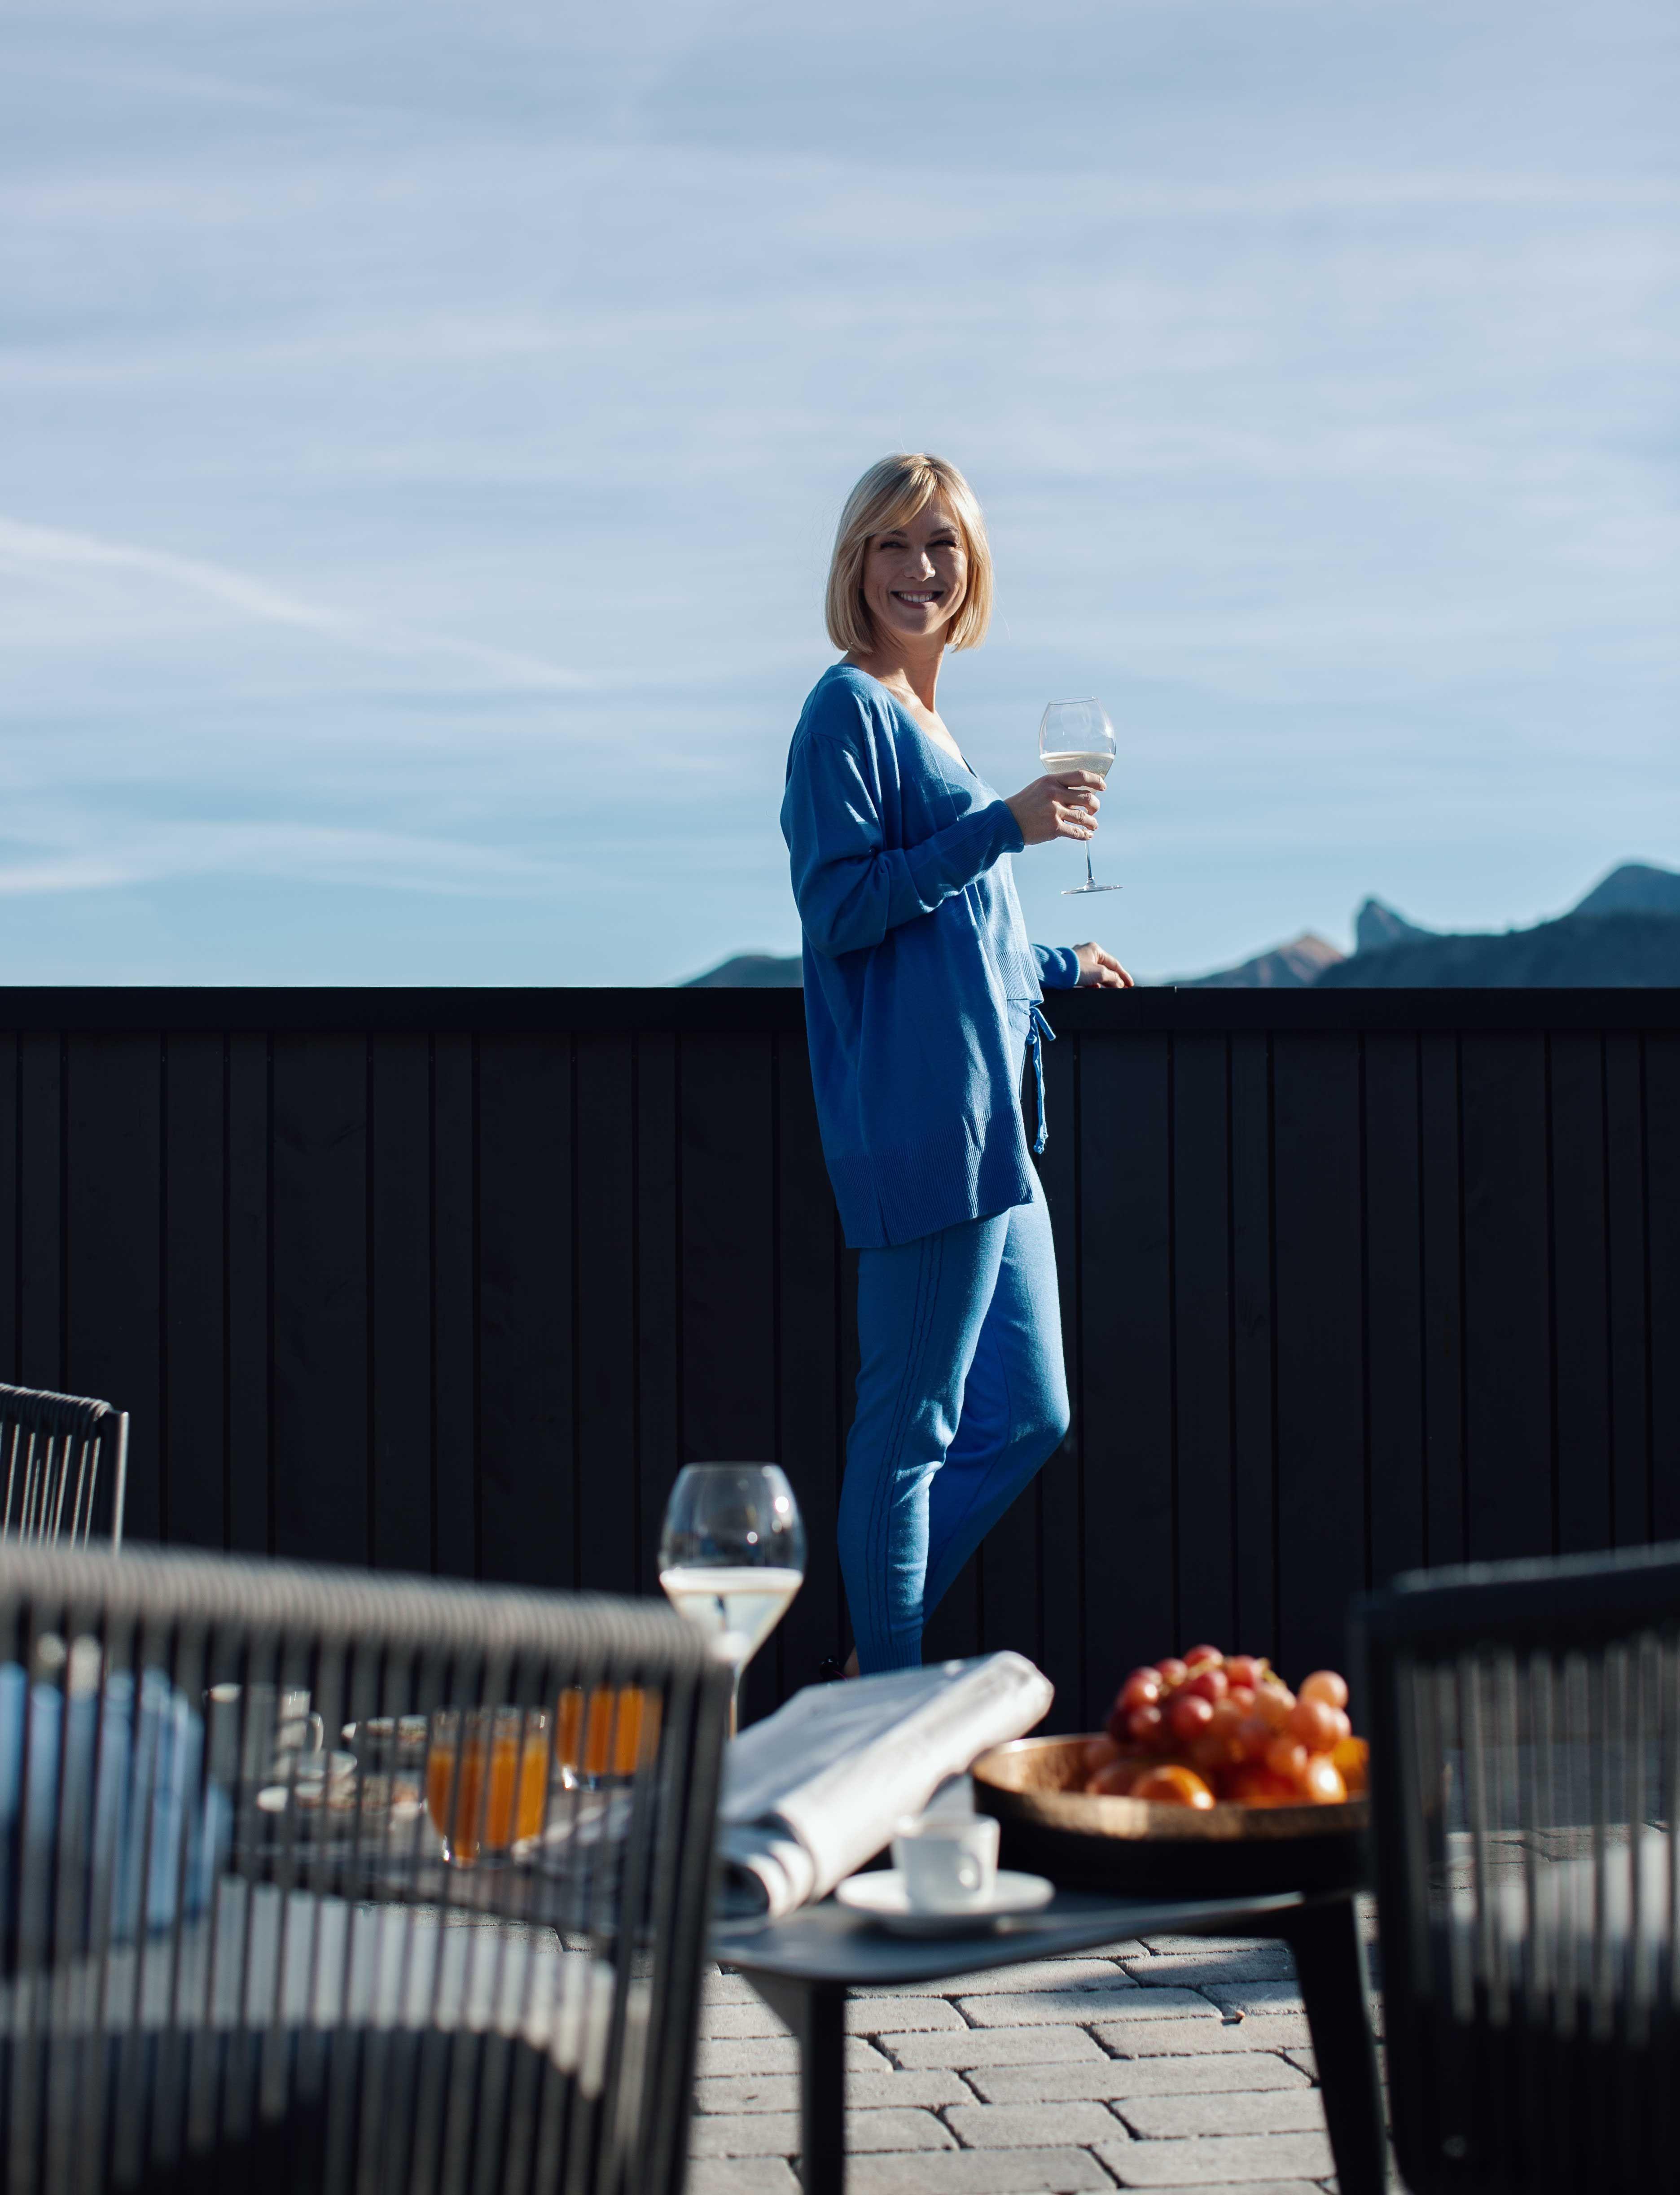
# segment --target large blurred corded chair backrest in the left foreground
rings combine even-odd
[[[0,1543],[0,2180],[676,2195],[727,1706],[654,1602]]]

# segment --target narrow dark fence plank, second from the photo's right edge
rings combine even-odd
[[[1610,1249],[1610,1486],[1616,1547],[1651,1536],[1645,1295],[1645,1078],[1638,1036],[1605,1036],[1605,1216]],[[1669,1337],[1673,1348],[1673,1337]],[[1673,1457],[1667,1457],[1673,1468]]]

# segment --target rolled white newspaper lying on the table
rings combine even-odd
[[[725,1912],[780,1921],[828,1896],[947,1776],[1026,1736],[1054,1697],[1019,1653],[795,1692],[729,1747],[718,1835]]]

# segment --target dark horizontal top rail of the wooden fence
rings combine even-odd
[[[1050,992],[1067,1034],[1676,1032],[1680,990],[1083,990]],[[804,992],[600,988],[0,988],[18,1034],[477,1034],[780,1036]]]

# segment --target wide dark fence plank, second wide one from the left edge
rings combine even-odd
[[[365,1565],[367,1040],[277,1036],[275,1554]]]

